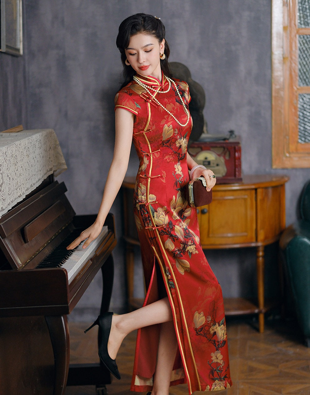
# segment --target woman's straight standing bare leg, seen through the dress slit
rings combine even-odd
[[[152,395],[168,395],[171,372],[177,351],[177,338],[173,321],[161,324],[156,370]]]

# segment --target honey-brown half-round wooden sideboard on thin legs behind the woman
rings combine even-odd
[[[216,184],[210,205],[198,207],[202,248],[256,247],[258,295],[254,304],[243,298],[224,299],[226,315],[258,314],[259,331],[264,331],[264,248],[274,243],[285,229],[285,183],[279,175],[245,175],[242,182]],[[123,190],[126,264],[129,304],[133,299],[133,246],[139,245],[133,219],[134,177],[125,177]]]

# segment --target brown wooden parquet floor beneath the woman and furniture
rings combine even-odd
[[[252,321],[227,321],[230,370],[233,386],[223,395],[310,395],[310,348],[303,345],[294,321],[266,323],[258,333]],[[71,363],[97,362],[97,330],[84,335],[88,323],[70,322]],[[123,342],[117,357],[121,380],[112,378],[109,395],[134,394],[129,391],[136,333]],[[196,394],[202,392],[195,392]],[[67,387],[65,395],[95,395],[94,386]],[[171,395],[188,395],[187,385],[170,388]]]

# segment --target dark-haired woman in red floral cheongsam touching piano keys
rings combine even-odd
[[[93,325],[100,329],[101,360],[117,378],[118,349],[138,329],[131,390],[151,395],[168,395],[170,385],[185,382],[190,394],[232,384],[222,291],[200,245],[196,209],[183,194],[189,177],[203,176],[207,190],[216,179],[187,153],[189,88],[171,79],[164,37],[164,25],[152,15],[132,15],[120,24],[116,44],[125,83],[115,99],[114,156],[95,223],[67,247],[87,239],[86,247],[99,235],[133,139],[140,159],[134,216],[147,295],[144,307],[104,314]]]

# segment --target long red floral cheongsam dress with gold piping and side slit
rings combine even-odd
[[[168,82],[138,79],[159,91]],[[188,109],[187,83],[175,80]],[[152,94],[181,124],[187,121],[176,88]],[[188,205],[187,143],[191,119],[180,126],[148,92],[132,81],[115,98],[115,108],[135,115],[133,142],[140,160],[134,189],[134,218],[146,282],[144,305],[160,297],[162,278],[172,309],[178,350],[171,385],[187,383],[194,391],[216,391],[232,385],[222,290],[200,244],[197,212]],[[159,273],[160,272],[160,273]],[[138,330],[132,391],[150,391],[156,367],[159,325]]]

